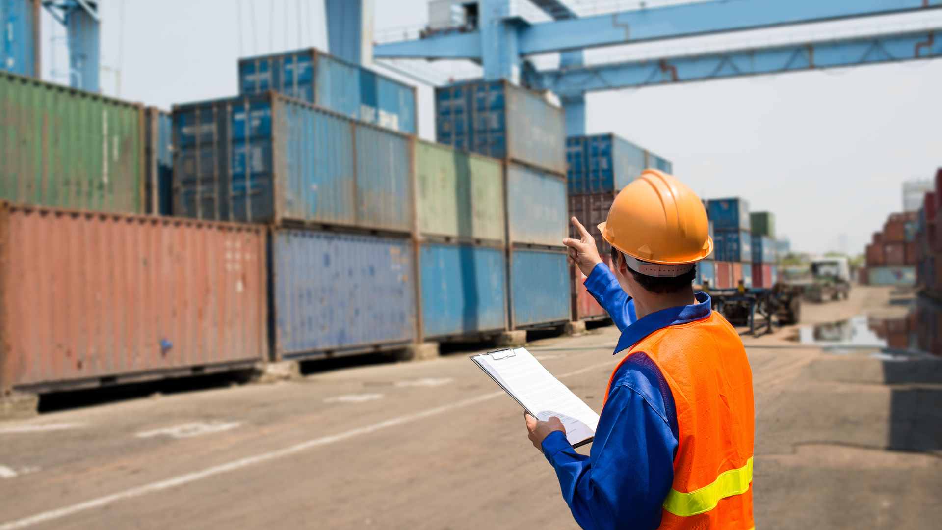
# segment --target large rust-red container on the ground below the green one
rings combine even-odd
[[[0,203],[0,393],[268,357],[266,228]]]

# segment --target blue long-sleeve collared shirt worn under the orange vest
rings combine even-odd
[[[710,313],[709,297],[698,293],[695,305],[664,309],[639,320],[634,301],[601,263],[585,286],[622,332],[615,354],[658,329]],[[671,389],[654,361],[636,353],[615,373],[590,455],[579,455],[560,432],[544,439],[543,451],[580,526],[657,528],[674,482],[678,439]]]

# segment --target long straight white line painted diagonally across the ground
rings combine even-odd
[[[573,372],[560,373],[557,375],[558,378],[569,377],[572,375],[577,375],[579,373],[586,373],[592,370],[597,370],[603,366],[613,366],[612,361],[607,361],[604,363],[593,364],[592,366],[587,366],[585,368],[580,368]],[[407,414],[405,416],[399,416],[398,418],[393,418],[386,420],[384,422],[373,423],[372,425],[365,425],[363,427],[357,427],[355,429],[350,429],[339,434],[332,436],[327,436],[317,439],[309,439],[307,441],[302,441],[298,444],[285,447],[284,449],[279,449],[276,451],[271,451],[269,453],[263,453],[261,455],[247,456],[245,458],[240,458],[232,462],[221,464],[219,466],[214,466],[212,468],[204,469],[199,472],[191,472],[184,475],[180,475],[174,478],[167,480],[161,480],[158,482],[152,482],[150,484],[145,484],[143,486],[138,486],[137,488],[125,489],[120,493],[113,493],[111,495],[106,495],[104,497],[99,497],[97,499],[92,499],[84,503],[79,503],[77,505],[65,506],[55,510],[45,511],[24,519],[17,521],[5,522],[0,524],[0,530],[17,530],[19,528],[26,528],[27,526],[33,526],[34,524],[40,524],[41,522],[50,522],[56,521],[57,519],[62,519],[63,517],[68,517],[70,515],[87,511],[94,508],[100,508],[102,506],[111,505],[118,501],[123,501],[126,499],[133,499],[135,497],[140,497],[142,495],[147,495],[149,493],[155,493],[157,491],[162,491],[164,489],[171,489],[177,486],[183,486],[184,484],[189,484],[190,482],[196,482],[198,480],[203,480],[204,478],[209,478],[225,472],[234,472],[242,468],[247,468],[255,464],[261,464],[262,462],[268,462],[269,460],[274,460],[276,458],[283,458],[284,456],[294,455],[302,451],[307,451],[314,447],[319,447],[322,445],[328,445],[331,443],[336,443],[338,441],[343,441],[345,439],[356,438],[388,427],[395,427],[397,425],[402,425],[404,423],[416,422],[418,420],[423,420],[431,416],[438,416],[439,414],[444,414],[448,411],[454,410],[456,408],[463,408],[465,406],[478,405],[479,403],[492,400],[496,397],[506,395],[503,390],[496,392],[491,392],[487,394],[479,395],[478,397],[473,397],[451,403],[449,405],[436,406],[434,408],[428,408],[414,414]]]

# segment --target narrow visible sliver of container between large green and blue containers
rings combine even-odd
[[[144,207],[147,213],[171,215],[173,204],[173,121],[169,112],[144,112]]]

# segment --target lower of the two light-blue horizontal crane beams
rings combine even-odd
[[[746,75],[769,75],[942,57],[942,32],[918,31],[790,44],[677,58],[602,64],[537,75],[537,87],[560,97]]]

